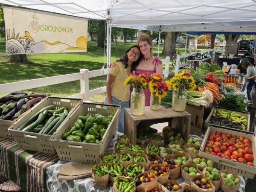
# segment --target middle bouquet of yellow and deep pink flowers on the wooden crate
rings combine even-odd
[[[148,89],[153,95],[151,105],[160,105],[158,98],[164,98],[167,91],[171,89],[170,81],[164,81],[163,76],[158,73],[150,75],[150,81],[148,82]]]

